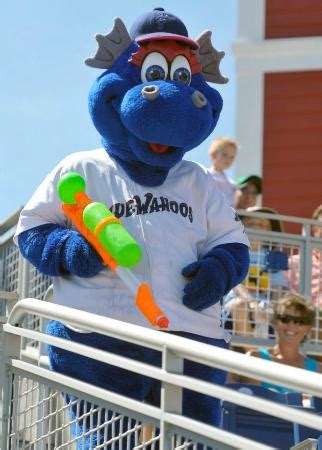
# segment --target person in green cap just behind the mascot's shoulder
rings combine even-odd
[[[257,197],[263,191],[261,177],[248,175],[237,179],[237,190],[235,194],[235,208],[247,209],[256,205]]]

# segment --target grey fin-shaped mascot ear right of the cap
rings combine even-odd
[[[204,31],[196,39],[199,44],[197,55],[202,67],[202,74],[206,81],[211,83],[224,84],[228,78],[221,75],[219,64],[225,55],[225,52],[218,52],[211,43],[211,31]]]

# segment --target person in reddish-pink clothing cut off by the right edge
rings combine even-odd
[[[322,222],[322,205],[313,212],[312,219]],[[312,234],[315,238],[322,237],[322,225],[312,226]],[[313,248],[312,251],[312,288],[311,297],[315,305],[322,306],[322,257],[321,250]],[[291,255],[289,258],[289,271],[286,277],[291,291],[299,293],[300,255]]]

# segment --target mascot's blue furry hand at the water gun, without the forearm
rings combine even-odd
[[[93,277],[103,269],[102,258],[78,231],[69,231],[63,247],[63,265],[78,277]]]

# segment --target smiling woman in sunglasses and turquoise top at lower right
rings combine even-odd
[[[301,344],[309,336],[315,319],[315,308],[305,298],[287,293],[274,308],[272,324],[277,343],[271,349],[259,348],[247,354],[258,358],[275,361],[311,372],[322,372],[322,365],[317,360],[301,353]],[[292,392],[291,389],[277,386],[265,381],[242,379],[243,382],[261,384],[277,392]]]

